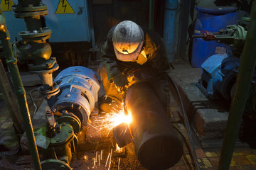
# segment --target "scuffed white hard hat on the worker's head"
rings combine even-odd
[[[122,21],[114,28],[112,40],[117,60],[131,62],[137,60],[142,50],[144,33],[136,23]]]

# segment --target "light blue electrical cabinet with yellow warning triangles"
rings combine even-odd
[[[18,4],[18,0],[13,0],[13,3]],[[45,16],[46,26],[53,32],[50,42],[90,42],[92,35],[86,0],[43,0],[43,4],[48,7],[48,15]],[[63,13],[56,14],[58,7],[63,10]],[[65,10],[68,9],[73,12],[67,13]],[[19,38],[19,32],[26,30],[25,23],[14,17],[14,11],[4,11],[4,16],[6,16],[6,25],[11,35],[11,41],[14,41],[15,38]]]

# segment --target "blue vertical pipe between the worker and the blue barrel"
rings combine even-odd
[[[176,11],[177,0],[164,1],[164,28],[163,38],[166,45],[166,53],[169,62],[174,61],[175,57],[175,37],[176,37]]]

